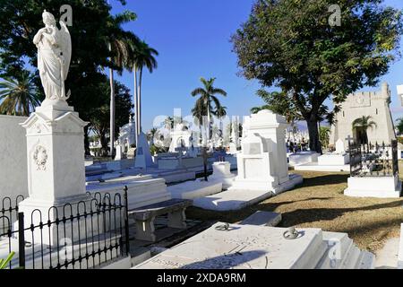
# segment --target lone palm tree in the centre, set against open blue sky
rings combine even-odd
[[[201,77],[200,81],[203,84],[203,87],[196,88],[191,93],[193,97],[200,96],[200,98],[196,100],[194,108],[192,109],[193,117],[198,118],[199,122],[202,123],[202,117],[207,116],[207,123],[204,126],[204,129],[207,129],[209,137],[211,135],[211,114],[214,115],[217,110],[222,109],[221,103],[215,95],[220,94],[222,96],[227,96],[227,91],[215,88],[213,86],[215,80],[216,78],[210,78],[209,80],[206,80]],[[207,138],[205,139],[205,141],[206,140]],[[204,143],[204,145],[206,144]]]

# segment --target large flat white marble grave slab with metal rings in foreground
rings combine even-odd
[[[227,229],[226,229],[227,227]],[[373,269],[346,233],[218,222],[133,269]]]

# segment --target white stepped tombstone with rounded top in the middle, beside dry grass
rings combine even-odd
[[[302,177],[288,176],[285,117],[270,110],[253,114],[237,158],[238,176],[231,189],[277,191],[293,187]]]

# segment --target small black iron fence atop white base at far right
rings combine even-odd
[[[351,177],[390,177],[399,173],[398,141],[390,144],[349,142]]]

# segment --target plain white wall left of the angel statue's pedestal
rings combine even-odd
[[[19,125],[27,118],[0,115],[0,198],[28,196],[26,131]]]

